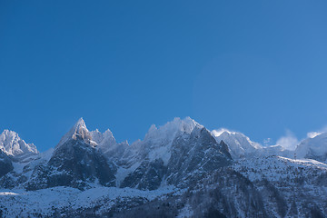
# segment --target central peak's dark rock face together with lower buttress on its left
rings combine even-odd
[[[168,163],[164,163],[163,157],[145,158],[124,179],[122,187],[154,190],[162,183],[185,186],[204,173],[232,163],[227,145],[223,141],[218,144],[202,126],[195,126],[191,133],[179,131],[164,150],[170,154]]]

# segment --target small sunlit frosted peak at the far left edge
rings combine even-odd
[[[26,144],[14,131],[5,130],[0,134],[0,150],[7,155],[38,154],[34,144]]]

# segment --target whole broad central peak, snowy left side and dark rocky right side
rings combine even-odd
[[[190,117],[175,118],[159,128],[153,125],[144,141],[132,144],[132,149],[130,162],[121,166],[125,170],[118,170],[125,176],[121,186],[144,190],[165,184],[187,185],[231,160],[227,146],[218,144],[203,125]]]

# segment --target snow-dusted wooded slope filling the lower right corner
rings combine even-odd
[[[327,164],[269,156],[239,160],[233,170],[262,195],[267,217],[325,217]]]

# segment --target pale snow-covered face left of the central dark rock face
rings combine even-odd
[[[116,149],[110,149],[111,152],[107,152],[106,156],[109,156],[108,154],[114,156],[114,151],[118,151],[116,154],[120,154],[120,158],[115,160],[116,163],[119,163],[116,174],[117,185],[131,185],[131,183],[124,182],[127,176],[132,178],[133,173],[140,172],[141,169],[147,171],[152,165],[165,168],[172,155],[173,139],[179,134],[191,134],[196,126],[203,127],[190,117],[184,119],[174,118],[173,121],[163,126],[156,127],[153,124],[142,141],[137,140],[131,145],[127,143],[116,144],[114,146]],[[162,179],[160,178],[160,180]]]

